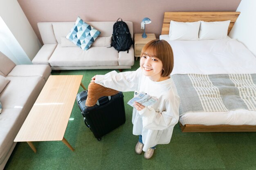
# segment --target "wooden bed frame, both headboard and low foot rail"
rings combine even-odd
[[[231,20],[228,33],[234,26],[240,12],[165,12],[162,26],[162,35],[169,34],[171,20],[177,22],[195,21],[226,21]],[[256,132],[256,126],[250,125],[191,125],[180,123],[182,132]]]

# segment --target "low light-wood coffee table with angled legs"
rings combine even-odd
[[[32,141],[63,141],[83,75],[50,75],[29,115],[18,132],[15,142],[26,141],[36,152]]]

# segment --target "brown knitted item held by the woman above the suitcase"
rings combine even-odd
[[[85,102],[85,106],[94,106],[100,97],[112,96],[117,93],[118,91],[113,90],[112,88],[106,88],[100,84],[90,82],[88,86],[88,96]]]

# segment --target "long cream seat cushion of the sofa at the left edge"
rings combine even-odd
[[[45,82],[42,77],[7,77],[11,79],[0,94],[0,164],[6,158],[13,140],[35,103]]]

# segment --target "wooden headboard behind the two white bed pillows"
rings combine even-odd
[[[234,26],[239,14],[240,12],[165,12],[161,34],[169,34],[171,20],[177,22],[195,22],[200,20],[213,22],[231,20],[228,29],[229,34],[229,31]]]

